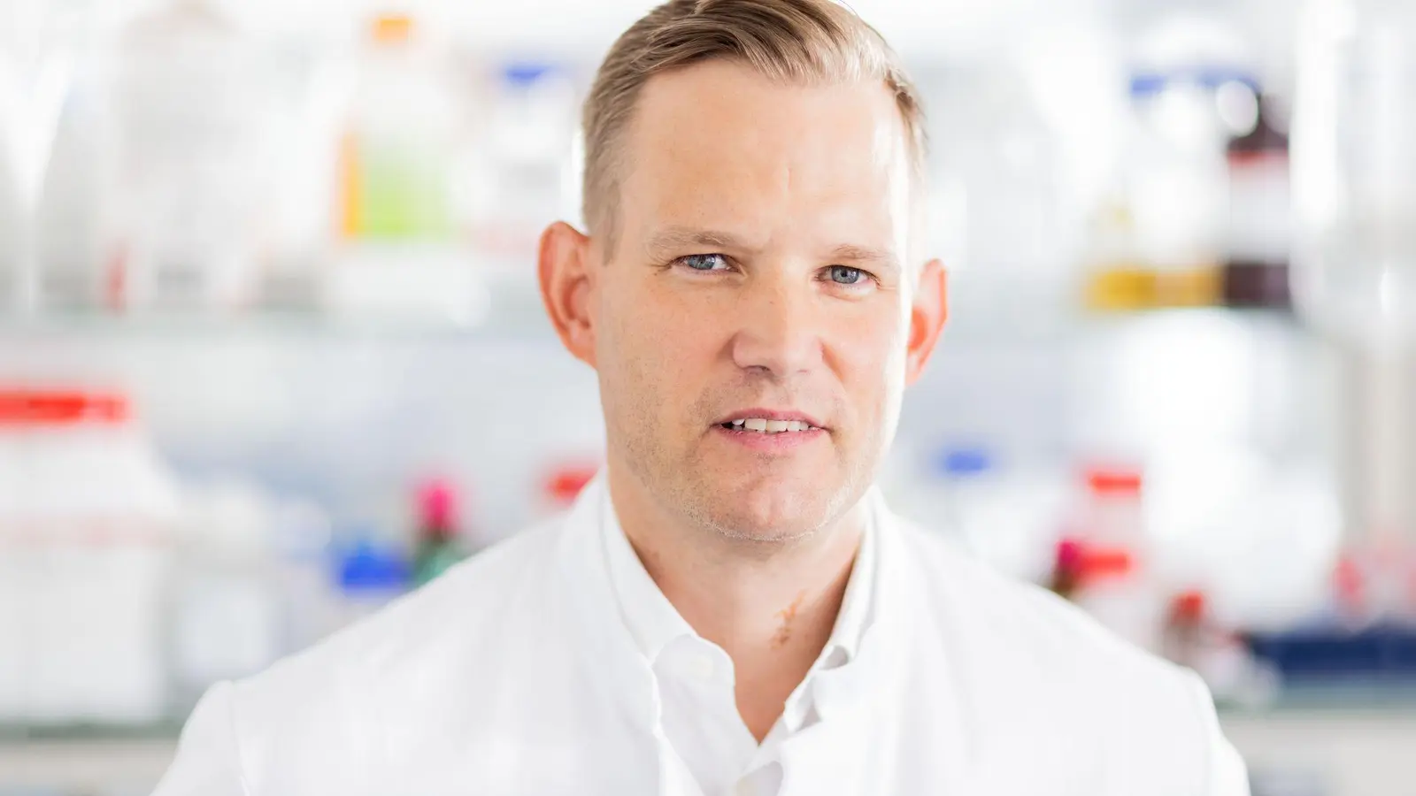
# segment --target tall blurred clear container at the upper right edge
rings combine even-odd
[[[1416,337],[1416,4],[1313,0],[1291,129],[1294,299],[1348,340]]]

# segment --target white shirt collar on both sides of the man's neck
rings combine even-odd
[[[610,585],[626,627],[634,637],[639,652],[653,666],[673,642],[681,637],[700,639],[700,636],[644,569],[644,564],[619,524],[609,490],[602,491],[605,507],[600,511],[600,535]],[[867,496],[867,500],[874,500],[874,496]],[[877,523],[875,511],[867,511],[865,516],[861,547],[851,567],[841,610],[813,669],[835,669],[854,660],[860,653],[861,639],[871,626],[877,579]]]

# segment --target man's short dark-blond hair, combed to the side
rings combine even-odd
[[[878,79],[895,95],[913,181],[923,180],[925,113],[899,58],[879,33],[834,0],[670,0],[610,47],[585,99],[582,212],[613,248],[622,137],[634,103],[660,72],[714,58],[789,82]]]

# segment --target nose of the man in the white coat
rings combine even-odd
[[[792,272],[793,269],[772,269]],[[769,272],[770,273],[770,272]],[[758,275],[741,295],[732,361],[773,381],[789,381],[823,361],[816,292],[809,280]]]

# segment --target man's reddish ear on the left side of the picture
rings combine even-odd
[[[590,239],[564,221],[541,232],[538,271],[541,300],[561,344],[572,357],[595,367],[595,313],[592,293],[596,273]]]

